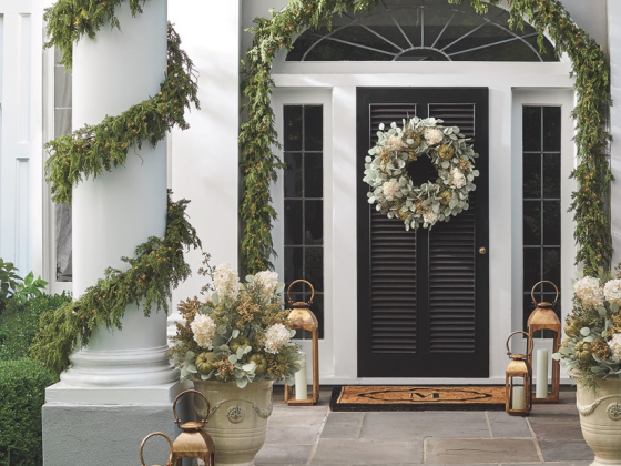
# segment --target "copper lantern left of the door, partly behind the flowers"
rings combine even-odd
[[[291,288],[296,283],[305,283],[310,287],[310,300],[308,302],[294,302],[291,298]],[[319,324],[317,317],[308,307],[313,304],[315,288],[306,280],[296,280],[287,288],[287,300],[293,306],[287,316],[288,326],[294,330],[305,330],[313,336],[313,393],[306,394],[306,364],[296,374],[296,396],[292,396],[288,385],[285,384],[285,402],[288,405],[310,406],[319,399]]]

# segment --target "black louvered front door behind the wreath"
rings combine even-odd
[[[406,231],[367,202],[367,151],[380,123],[444,120],[479,154],[470,209]],[[359,88],[357,92],[358,376],[489,376],[488,90]],[[427,158],[409,165],[415,184],[437,178]]]

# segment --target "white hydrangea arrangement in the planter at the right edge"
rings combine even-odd
[[[552,357],[588,385],[594,378],[621,374],[621,269],[615,276],[584,276],[573,284],[573,308],[563,340]]]

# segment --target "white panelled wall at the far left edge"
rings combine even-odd
[[[42,3],[0,2],[0,257],[42,272]]]

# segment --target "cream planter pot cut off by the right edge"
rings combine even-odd
[[[621,466],[621,379],[598,379],[597,392],[578,381],[576,405],[587,445],[595,454],[591,466]]]

